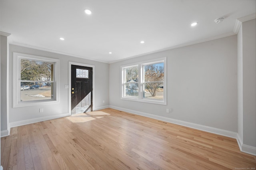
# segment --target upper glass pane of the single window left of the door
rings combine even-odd
[[[53,63],[20,59],[20,78],[30,81],[52,81]]]

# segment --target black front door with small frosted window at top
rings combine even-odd
[[[71,113],[92,111],[92,67],[71,65]]]

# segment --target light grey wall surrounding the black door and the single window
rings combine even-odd
[[[38,49],[32,49],[27,47],[22,47],[18,45],[10,44],[10,74],[9,84],[12,87],[12,70],[13,68],[13,52],[25,53],[30,55],[38,55],[42,57],[50,57],[60,59],[60,102],[56,104],[32,106],[32,107],[20,107],[13,108],[13,93],[10,90],[9,101],[10,101],[10,125],[20,125],[27,123],[29,119],[41,120],[42,117],[54,117],[58,115],[63,115],[68,113],[68,89],[64,89],[64,85],[68,85],[68,61],[84,63],[89,65],[95,65],[95,108],[108,107],[109,105],[109,64],[101,63],[97,61],[91,61],[87,59],[81,59],[77,57],[70,57],[67,55],[51,53],[47,51],[41,51]],[[1,71],[2,73],[2,71]],[[103,103],[102,101],[105,101]],[[39,109],[43,108],[44,112],[39,113]],[[2,113],[2,112],[1,112]],[[4,123],[3,121],[1,124]],[[1,129],[3,130],[3,129]]]

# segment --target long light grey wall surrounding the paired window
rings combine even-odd
[[[167,57],[167,106],[120,99],[120,66],[161,57]],[[111,63],[110,107],[237,132],[236,35]]]

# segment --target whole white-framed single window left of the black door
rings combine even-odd
[[[58,59],[14,53],[14,107],[57,101]]]

